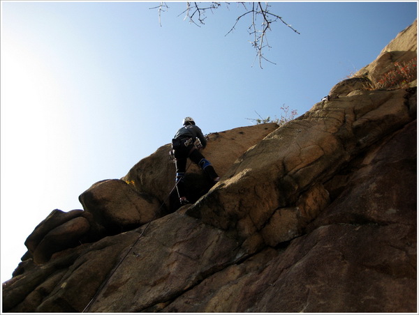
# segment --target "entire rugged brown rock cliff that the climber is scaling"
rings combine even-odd
[[[3,312],[417,312],[416,87],[372,89],[411,52],[416,22],[299,118],[210,135],[222,178],[192,165],[191,205],[169,145],[92,185],[27,238]]]

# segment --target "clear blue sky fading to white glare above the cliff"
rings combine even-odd
[[[24,240],[98,180],[168,144],[184,116],[205,134],[307,112],[417,17],[414,2],[275,2],[270,61],[255,62],[236,3],[184,20],[186,3],[1,1],[1,281]],[[216,167],[216,165],[215,165]],[[169,174],[168,176],[173,176]]]

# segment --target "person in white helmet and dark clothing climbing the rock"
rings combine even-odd
[[[205,171],[205,174],[210,177],[213,183],[217,183],[220,178],[216,174],[214,167],[212,167],[211,162],[205,159],[199,151],[200,148],[207,146],[207,139],[205,139],[203,132],[191,117],[184,118],[182,123],[184,126],[177,130],[175,137],[172,139],[172,153],[175,156],[177,193],[179,194],[180,203],[184,205],[189,203],[188,199],[186,199],[184,184],[188,157]],[[195,146],[197,138],[200,144]]]

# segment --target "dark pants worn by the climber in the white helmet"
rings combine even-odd
[[[188,157],[192,162],[203,169],[205,174],[207,174],[211,180],[214,180],[216,177],[218,177],[210,161],[205,159],[204,155],[202,155],[200,151],[198,151],[195,146],[193,146],[193,144],[184,146],[184,141],[182,141],[180,148],[175,149],[176,183],[179,197],[185,197],[186,195],[184,177],[186,173],[186,162],[188,161]]]

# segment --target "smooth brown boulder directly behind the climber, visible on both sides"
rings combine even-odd
[[[267,123],[212,133],[207,136],[207,148],[203,155],[222,176],[248,148],[256,145],[277,128],[277,124]],[[173,190],[176,170],[174,162],[169,159],[170,148],[170,144],[162,146],[149,157],[140,160],[122,178],[132,183],[138,192],[157,197],[159,202],[164,203],[166,213],[180,206],[177,192]],[[186,188],[189,194],[186,197],[189,201],[195,202],[210,190],[212,184],[202,175],[200,167],[196,164],[189,161],[187,167],[189,168],[186,172]],[[169,199],[168,194],[170,194]]]

